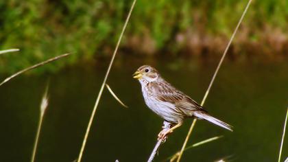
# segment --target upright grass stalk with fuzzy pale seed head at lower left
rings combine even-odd
[[[39,117],[39,122],[38,122],[38,128],[37,128],[37,133],[36,133],[36,137],[35,137],[35,142],[34,142],[34,148],[33,148],[33,152],[32,152],[32,158],[31,158],[31,162],[35,161],[35,155],[36,155],[36,150],[37,150],[37,146],[38,146],[38,139],[39,139],[39,135],[40,135],[40,131],[42,128],[42,122],[43,122],[43,117],[45,114],[45,110],[48,106],[48,85],[46,87],[45,93],[42,97],[42,102],[40,104],[40,117]]]

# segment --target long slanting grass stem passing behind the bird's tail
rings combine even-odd
[[[211,89],[211,87],[212,87],[212,85],[213,85],[213,82],[214,82],[214,80],[215,80],[215,78],[216,78],[216,76],[217,76],[217,73],[218,73],[218,71],[219,71],[219,69],[220,69],[220,67],[221,67],[221,65],[222,65],[222,62],[224,61],[224,58],[225,58],[225,56],[226,56],[226,54],[227,54],[227,51],[228,51],[228,49],[229,49],[229,47],[230,47],[230,45],[231,45],[231,43],[232,43],[232,40],[234,39],[234,37],[235,37],[235,35],[236,35],[237,31],[238,31],[238,28],[239,28],[241,22],[243,21],[243,18],[244,18],[244,16],[245,16],[246,12],[248,11],[248,8],[249,8],[249,6],[250,6],[251,1],[252,1],[252,0],[249,0],[249,1],[248,1],[247,5],[246,5],[246,7],[245,7],[245,10],[243,11],[243,14],[241,15],[241,18],[240,18],[240,20],[239,20],[239,22],[238,22],[238,24],[237,24],[237,26],[236,26],[236,28],[235,28],[235,30],[234,30],[231,38],[230,38],[230,40],[229,40],[229,43],[228,43],[228,45],[227,45],[227,47],[226,47],[226,49],[225,49],[225,51],[224,51],[224,54],[223,54],[223,56],[221,57],[221,60],[220,60],[218,66],[217,66],[217,68],[216,68],[216,70],[215,70],[215,73],[214,73],[214,75],[213,75],[213,78],[212,78],[212,80],[211,80],[211,82],[210,82],[210,84],[209,84],[209,86],[208,86],[208,89],[207,89],[207,91],[206,91],[206,93],[205,93],[205,95],[204,95],[204,97],[203,97],[203,100],[202,100],[202,102],[201,102],[201,106],[203,106],[204,103],[205,103],[205,101],[206,101],[206,98],[207,98],[207,96],[208,96],[208,94],[209,94],[209,91],[210,91],[210,89]],[[187,137],[186,137],[186,139],[185,139],[185,141],[184,141],[184,143],[183,143],[183,146],[182,146],[182,148],[181,148],[181,152],[180,152],[180,154],[179,154],[179,157],[178,157],[177,162],[179,162],[180,159],[181,159],[181,157],[182,157],[182,154],[183,154],[184,149],[185,149],[185,147],[186,147],[186,145],[187,145],[187,142],[188,142],[188,140],[189,140],[189,137],[190,137],[190,135],[191,135],[191,132],[192,132],[192,130],[193,130],[195,124],[196,124],[196,121],[197,121],[197,119],[193,119],[193,122],[192,122],[192,124],[191,124],[191,127],[189,128],[189,132],[188,132],[188,134],[187,134]]]

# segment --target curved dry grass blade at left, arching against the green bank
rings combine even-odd
[[[53,62],[53,61],[55,61],[55,60],[58,60],[58,59],[60,59],[60,58],[64,58],[64,57],[69,56],[69,55],[70,55],[70,54],[62,54],[62,55],[60,55],[60,56],[56,56],[56,57],[54,57],[54,58],[50,58],[49,60],[45,60],[45,61],[43,61],[43,62],[40,62],[40,63],[36,64],[36,65],[33,65],[32,67],[27,67],[26,69],[23,69],[23,70],[21,70],[21,71],[18,71],[17,73],[14,73],[12,76],[6,78],[3,82],[1,82],[1,83],[0,83],[0,86],[3,85],[3,84],[5,84],[5,82],[8,82],[8,81],[11,80],[12,78],[15,78],[16,76],[19,76],[21,73],[24,73],[24,72],[29,71],[29,70],[31,70],[31,69],[35,69],[35,68],[40,67],[40,66],[43,66],[43,65],[45,65],[45,64],[47,64],[47,63],[49,63],[49,62]]]

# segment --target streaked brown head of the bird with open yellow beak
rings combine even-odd
[[[157,80],[159,76],[160,75],[158,71],[149,65],[143,65],[142,67],[139,67],[133,74],[133,78],[139,81],[145,80],[147,82],[153,82]]]

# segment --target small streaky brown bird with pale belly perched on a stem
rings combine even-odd
[[[139,67],[133,74],[133,78],[141,83],[146,105],[165,121],[174,125],[167,131],[161,131],[158,135],[159,139],[164,139],[168,133],[181,126],[183,119],[187,117],[206,119],[232,131],[232,126],[208,115],[200,104],[166,82],[153,67],[149,65]]]

